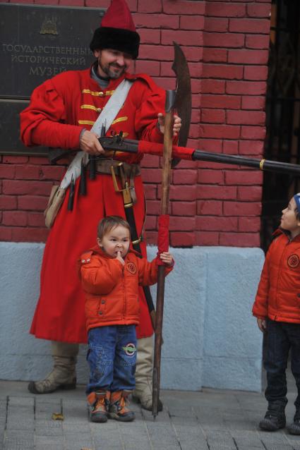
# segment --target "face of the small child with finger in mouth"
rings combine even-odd
[[[129,230],[125,226],[115,226],[102,239],[97,238],[97,243],[109,256],[115,258],[121,252],[121,257],[124,258],[130,245]]]

